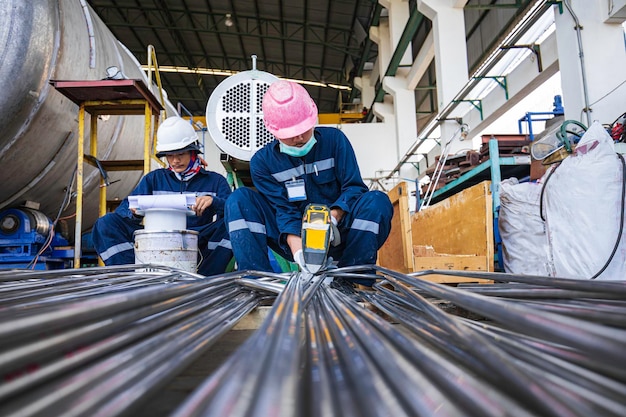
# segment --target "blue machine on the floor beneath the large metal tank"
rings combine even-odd
[[[59,269],[71,265],[73,248],[54,233],[52,221],[29,208],[0,212],[0,269]]]

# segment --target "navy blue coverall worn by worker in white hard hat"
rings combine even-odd
[[[198,232],[202,261],[198,273],[209,276],[223,273],[233,253],[224,223],[224,204],[231,195],[226,179],[215,172],[200,169],[188,181],[181,181],[165,168],[146,174],[131,195],[195,193],[210,195],[213,203],[202,216],[187,216],[187,229]],[[100,217],[92,229],[93,243],[105,265],[135,263],[133,234],[142,229],[142,217],[135,216],[124,199],[117,209]]]

